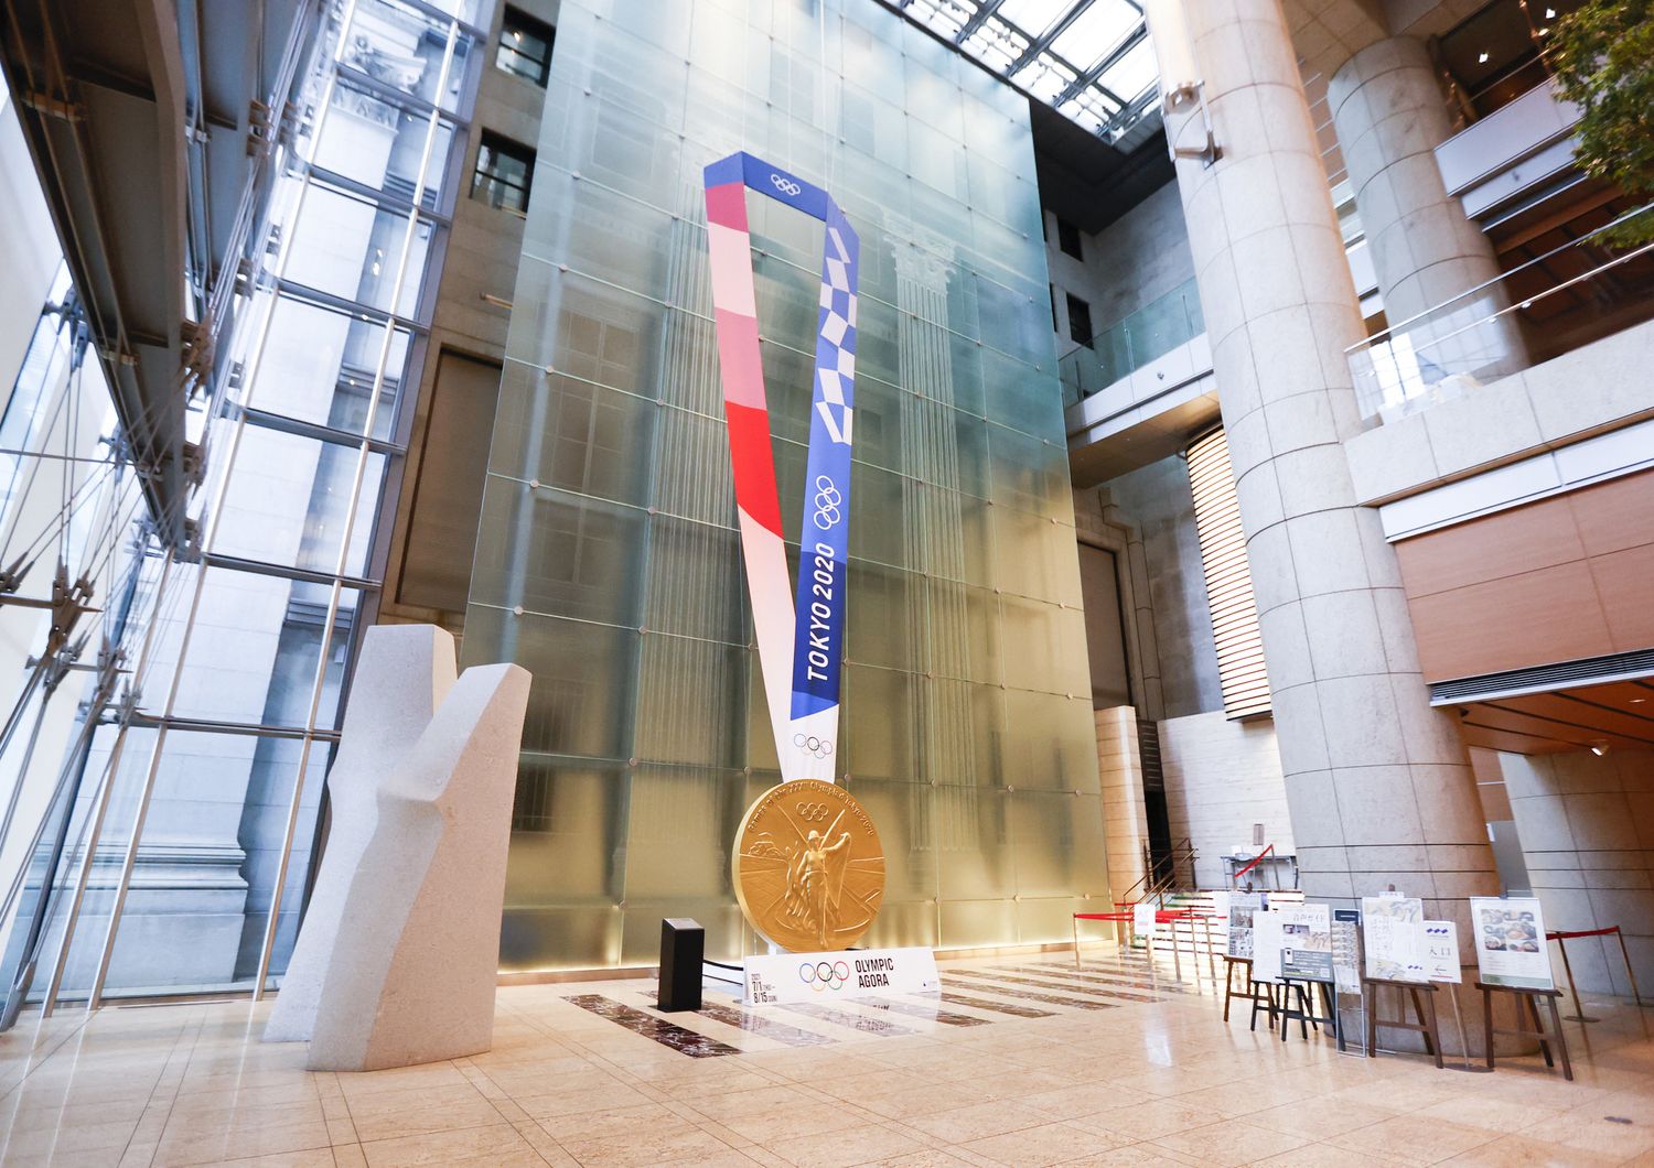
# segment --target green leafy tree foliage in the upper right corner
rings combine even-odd
[[[1551,30],[1561,96],[1580,106],[1580,164],[1639,203],[1654,200],[1654,0],[1588,0]],[[1654,210],[1608,240],[1654,240]]]

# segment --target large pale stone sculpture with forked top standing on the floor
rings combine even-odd
[[[367,631],[329,776],[327,852],[265,1033],[309,1037],[311,1069],[490,1047],[528,687],[511,664],[453,681],[442,629]]]

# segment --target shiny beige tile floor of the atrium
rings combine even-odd
[[[1087,963],[1143,975],[1108,950]],[[949,976],[1006,965],[1072,990]],[[1568,1084],[1537,1056],[1464,1074],[1282,1044],[1242,1016],[1226,1026],[1214,988],[1184,975],[1181,993],[1156,971],[1161,993],[1120,986],[1148,1001],[1080,1009],[1059,1003],[1103,1001],[1103,983],[1050,955],[999,958],[944,965],[948,990],[1047,1016],[943,1003],[981,1023],[964,1026],[839,1004],[895,1034],[766,1014],[814,1046],[672,1016],[739,1051],[719,1057],[567,1001],[653,1016],[645,981],[518,986],[500,991],[488,1054],[374,1074],[308,1072],[303,1044],[260,1042],[268,1004],[25,1016],[0,1037],[0,1163],[1654,1165],[1654,1009],[1603,1001],[1588,1033],[1570,1024]]]

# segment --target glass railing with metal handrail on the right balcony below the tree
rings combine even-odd
[[[1654,243],[1616,245],[1654,203],[1351,345],[1363,418],[1396,421],[1654,317]]]

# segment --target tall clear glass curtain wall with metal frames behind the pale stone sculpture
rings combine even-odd
[[[198,547],[144,542],[131,700],[91,730],[33,983],[53,1004],[280,985],[402,453],[490,0],[329,0],[241,289]],[[10,872],[7,872],[10,876]],[[31,927],[15,917],[8,968]]]

